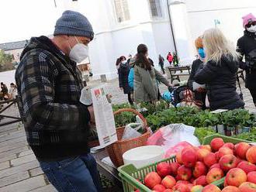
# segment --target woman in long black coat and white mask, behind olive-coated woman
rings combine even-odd
[[[131,90],[128,84],[130,67],[129,67],[129,64],[126,62],[126,57],[121,56],[119,57],[118,60],[119,60],[119,69],[118,69],[119,88],[123,90],[124,94],[128,95],[128,101],[130,105],[133,105],[133,99],[131,98]]]

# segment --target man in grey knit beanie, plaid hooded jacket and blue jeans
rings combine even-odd
[[[101,191],[88,148],[94,112],[79,102],[83,82],[77,68],[88,57],[93,36],[84,15],[66,11],[56,22],[53,39],[30,39],[16,70],[27,141],[58,191]]]

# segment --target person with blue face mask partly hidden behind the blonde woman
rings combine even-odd
[[[195,84],[195,74],[196,72],[202,68],[203,62],[206,58],[205,50],[202,46],[202,37],[199,36],[195,39],[195,48],[198,53],[198,59],[194,60],[191,67],[191,73],[189,75],[188,86],[189,88],[194,91],[195,100],[202,101],[202,109],[206,109],[206,89],[199,87],[198,89],[194,90],[193,84]]]

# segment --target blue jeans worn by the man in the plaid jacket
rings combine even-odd
[[[40,166],[59,192],[102,191],[96,161],[89,153],[61,161],[40,161]]]

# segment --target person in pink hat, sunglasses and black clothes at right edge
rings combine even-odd
[[[256,18],[251,13],[243,17],[244,36],[237,41],[240,68],[246,71],[245,87],[251,92],[256,106]],[[244,60],[245,57],[245,60]]]

